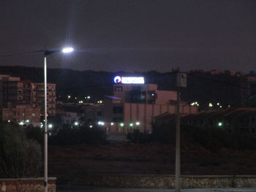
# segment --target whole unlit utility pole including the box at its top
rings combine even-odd
[[[175,190],[181,191],[181,121],[180,121],[180,103],[181,89],[187,87],[187,74],[177,72],[177,104],[176,104],[176,161],[175,161]]]

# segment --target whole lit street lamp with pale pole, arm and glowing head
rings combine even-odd
[[[53,53],[71,53],[72,47],[64,47],[62,50],[43,50],[44,53],[44,85],[45,85],[45,131],[44,131],[44,186],[48,192],[48,127],[47,127],[47,62],[48,55]]]

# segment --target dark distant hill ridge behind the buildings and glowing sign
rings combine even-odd
[[[11,74],[22,80],[43,82],[43,69],[27,66],[0,66],[0,74]],[[80,99],[91,95],[94,99],[102,99],[112,94],[113,77],[115,75],[142,75],[148,83],[157,83],[159,89],[175,90],[175,74],[173,72],[95,72],[74,71],[72,69],[48,69],[48,82],[57,84],[58,99],[67,99],[67,95]],[[210,72],[189,72],[187,88],[181,90],[184,101],[198,101],[207,105],[209,102],[220,102],[232,107],[241,104],[241,78],[230,74],[211,74]]]

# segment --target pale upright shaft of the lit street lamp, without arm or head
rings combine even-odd
[[[45,134],[44,134],[44,186],[45,192],[48,192],[48,128],[47,128],[47,65],[46,65],[46,55],[44,64],[44,74],[45,74]]]

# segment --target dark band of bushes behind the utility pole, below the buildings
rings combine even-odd
[[[175,126],[153,126],[151,135],[135,131],[128,135],[127,139],[132,142],[162,142],[175,145]],[[211,152],[218,152],[222,148],[246,150],[256,149],[256,138],[250,134],[234,133],[230,134],[222,128],[196,128],[191,126],[181,126],[181,146],[182,144],[195,143],[205,147]]]

